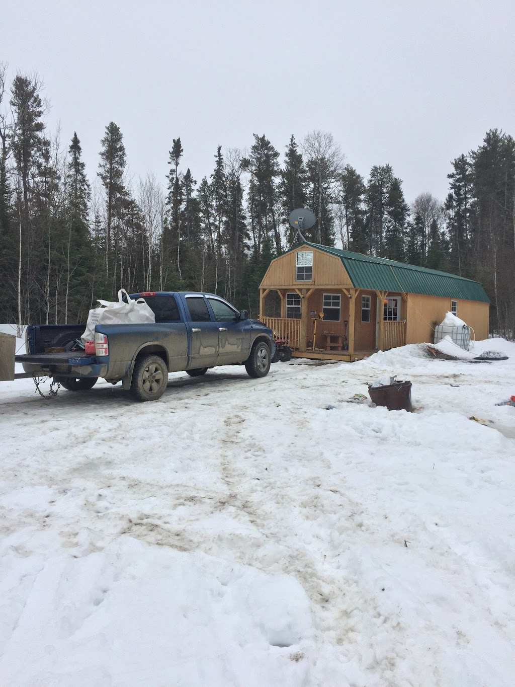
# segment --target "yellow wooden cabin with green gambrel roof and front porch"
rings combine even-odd
[[[266,270],[259,319],[295,357],[354,361],[433,343],[448,311],[487,339],[489,308],[479,282],[305,241]]]

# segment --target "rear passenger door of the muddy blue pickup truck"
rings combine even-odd
[[[188,369],[212,368],[218,358],[218,322],[211,320],[204,297],[201,295],[185,296],[187,310],[190,313],[191,362]]]

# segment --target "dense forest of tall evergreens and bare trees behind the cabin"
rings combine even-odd
[[[264,271],[293,241],[288,215],[309,207],[306,240],[479,280],[491,332],[514,337],[515,141],[497,128],[452,161],[446,199],[408,202],[389,164],[362,176],[328,132],[218,146],[200,181],[177,132],[166,178],[129,181],[115,122],[86,170],[80,131],[62,142],[46,114],[38,76],[0,65],[0,322],[85,322],[122,286],[210,291],[257,317]]]

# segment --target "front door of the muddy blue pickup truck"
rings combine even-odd
[[[249,357],[251,333],[240,313],[221,298],[206,296],[218,324],[218,365],[242,363]]]

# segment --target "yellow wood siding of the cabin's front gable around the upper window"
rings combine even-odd
[[[306,246],[299,250],[306,251]],[[309,249],[311,250],[311,249]],[[352,286],[349,275],[341,264],[340,258],[330,256],[323,251],[313,249],[313,272],[310,282],[297,282],[297,251],[291,251],[284,256],[272,260],[260,284],[261,289],[274,286],[295,286],[296,289],[306,289],[310,286]]]

